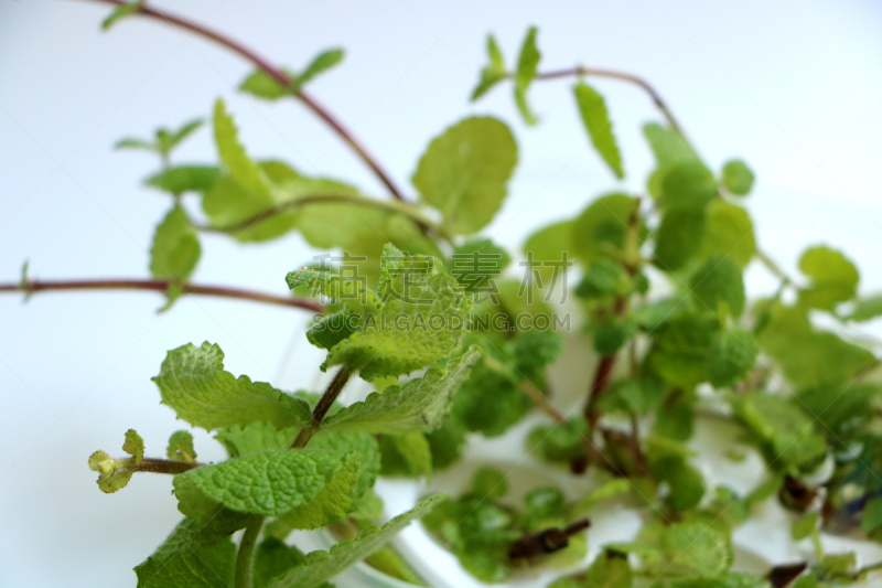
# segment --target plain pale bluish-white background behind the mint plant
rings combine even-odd
[[[746,159],[757,175],[749,207],[761,246],[790,272],[806,244],[853,258],[863,292],[882,289],[882,4],[867,1],[160,2],[230,33],[293,68],[342,45],[342,66],[312,93],[351,125],[412,195],[409,177],[434,135],[469,114],[493,114],[517,136],[520,163],[486,234],[516,248],[533,228],[573,215],[616,183],[587,148],[570,82],[531,89],[542,117],[526,128],[510,87],[467,103],[495,31],[509,63],[529,24],[541,68],[620,68],[652,79],[716,169]],[[255,157],[383,186],[300,105],[236,93],[238,56],[160,23],[131,19],[108,33],[104,6],[0,0],[0,282],[22,261],[45,279],[146,277],[152,231],[169,207],[140,180],[148,154],[114,152],[122,136],[207,117],[223,96]],[[658,119],[645,95],[612,81],[605,94],[628,171],[642,191],[650,153],[639,126]],[[212,162],[200,131],[178,162]],[[286,271],[314,252],[291,235],[234,246],[206,236],[194,280],[286,291]],[[752,295],[771,291],[761,268]],[[149,381],[166,350],[217,342],[234,373],[293,389],[319,355],[305,314],[254,303],[189,299],[163,316],[146,292],[0,297],[0,586],[135,586],[131,567],[180,515],[171,481],[139,475],[116,494],[95,487],[86,460],[118,453],[131,427],[161,455],[175,421]],[[878,325],[871,329],[879,331]],[[292,341],[298,355],[283,365]],[[587,376],[588,377],[588,376]],[[222,457],[197,435],[205,459]]]

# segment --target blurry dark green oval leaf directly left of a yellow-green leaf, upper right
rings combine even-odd
[[[664,271],[680,269],[700,250],[707,233],[708,216],[704,211],[665,211],[656,232],[653,263]]]

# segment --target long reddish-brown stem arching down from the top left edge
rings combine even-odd
[[[95,0],[95,1],[115,6],[125,3],[122,0]],[[246,60],[250,61],[251,63],[257,65],[260,70],[263,70],[267,74],[269,74],[270,77],[276,79],[282,86],[291,87],[291,79],[284,74],[284,72],[281,71],[281,68],[276,67],[275,65],[269,63],[267,60],[265,60],[250,49],[246,47],[241,43],[234,41],[233,39],[224,34],[207,29],[200,23],[180,17],[175,17],[174,14],[171,14],[169,12],[157,10],[147,6],[142,6],[140,9],[138,9],[138,13],[143,14],[144,17],[151,17],[154,19],[165,21],[169,24],[186,29],[187,31],[192,31],[206,39],[211,39],[212,41],[215,41],[224,45],[230,51],[234,51],[235,53],[238,53]],[[305,104],[308,108],[310,108],[313,113],[319,115],[319,117],[321,117],[325,122],[327,122],[327,125],[330,125],[331,128],[333,128],[337,132],[337,135],[340,135],[340,137],[343,138],[344,141],[349,143],[349,147],[358,154],[358,157],[361,157],[362,160],[365,163],[367,163],[367,165],[372,170],[374,170],[374,173],[377,174],[377,178],[379,178],[379,180],[384,184],[386,184],[386,188],[389,189],[389,192],[391,192],[392,196],[401,201],[406,200],[404,193],[400,190],[398,190],[391,177],[388,173],[386,173],[386,171],[380,167],[379,162],[367,151],[367,149],[355,137],[355,135],[353,135],[351,129],[344,127],[343,124],[340,120],[337,120],[337,118],[333,114],[331,114],[331,111],[327,110],[327,108],[319,104],[315,100],[315,98],[303,92],[303,89],[300,89],[295,94],[295,96],[300,98],[300,100],[303,104]]]

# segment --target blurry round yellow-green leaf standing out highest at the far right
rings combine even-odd
[[[824,246],[806,249],[799,270],[811,278],[811,286],[799,290],[802,306],[832,310],[838,302],[854,297],[858,269],[837,250]]]

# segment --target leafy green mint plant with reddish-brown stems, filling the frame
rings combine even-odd
[[[882,295],[859,293],[858,269],[827,245],[806,249],[798,277],[782,271],[759,247],[743,206],[755,180],[751,169],[739,159],[716,167],[703,160],[647,82],[593,67],[540,70],[535,28],[514,62],[488,36],[488,64],[472,99],[510,83],[524,122],[537,125],[530,87],[572,81],[574,111],[549,116],[574,115],[614,179],[625,177],[627,161],[594,81],[636,84],[663,118],[643,128],[655,157],[646,192],[602,193],[579,215],[525,235],[518,280],[512,253],[481,236],[518,161],[505,122],[471,117],[440,132],[416,162],[413,200],[309,94],[310,81],[338,64],[343,50],[324,51],[299,71],[276,67],[143,0],[103,1],[115,4],[104,29],[152,18],[249,60],[256,70],[241,92],[303,103],[390,195],[377,199],[343,180],[252,159],[218,98],[205,125],[217,162],[173,158],[202,120],[117,143],[159,157],[146,183],[166,193],[170,207],[155,228],[151,279],[40,281],[25,265],[18,285],[0,286],[28,296],[153,290],[166,298],[162,311],[181,296],[207,295],[315,313],[305,336],[327,351],[316,367],[334,372],[321,393],[236,377],[208,342],[168,352],[153,377],[161,402],[191,427],[213,432],[229,459],[200,462],[185,429],[169,439],[164,458],[151,457],[162,446],[131,429],[126,457],[88,458],[108,493],[135,473],[173,475],[170,489],[184,517],[135,567],[139,587],[329,586],[361,560],[424,584],[413,563],[385,546],[417,520],[485,582],[545,566],[560,570],[553,588],[814,588],[858,582],[882,568],[853,553],[826,553],[821,542],[821,533],[882,538],[879,362],[856,329],[882,316]],[[202,211],[184,195],[198,199]],[[289,272],[290,297],[192,284],[206,232],[240,243],[299,232],[342,255],[334,265],[315,259]],[[779,280],[773,296],[747,297],[743,272],[752,263]],[[574,410],[556,406],[549,385],[549,370],[573,339],[563,336],[568,330],[594,350],[583,362],[591,370]],[[337,398],[356,377],[376,392],[343,406]],[[572,499],[536,480],[518,502],[506,472],[484,467],[460,495],[428,495],[374,525],[384,510],[374,491],[378,477],[430,478],[462,459],[470,438],[510,435],[531,411],[545,423],[518,439],[525,458],[547,471],[591,472],[590,492]],[[701,420],[736,428],[741,442],[725,459],[754,452],[765,479],[746,493],[710,480],[689,445]],[[591,516],[612,501],[638,512],[642,528],[585,562]],[[811,542],[815,555],[733,569],[732,533],[764,501],[789,512],[793,541]],[[320,528],[338,541],[327,552],[304,555],[289,543],[293,531]]]

